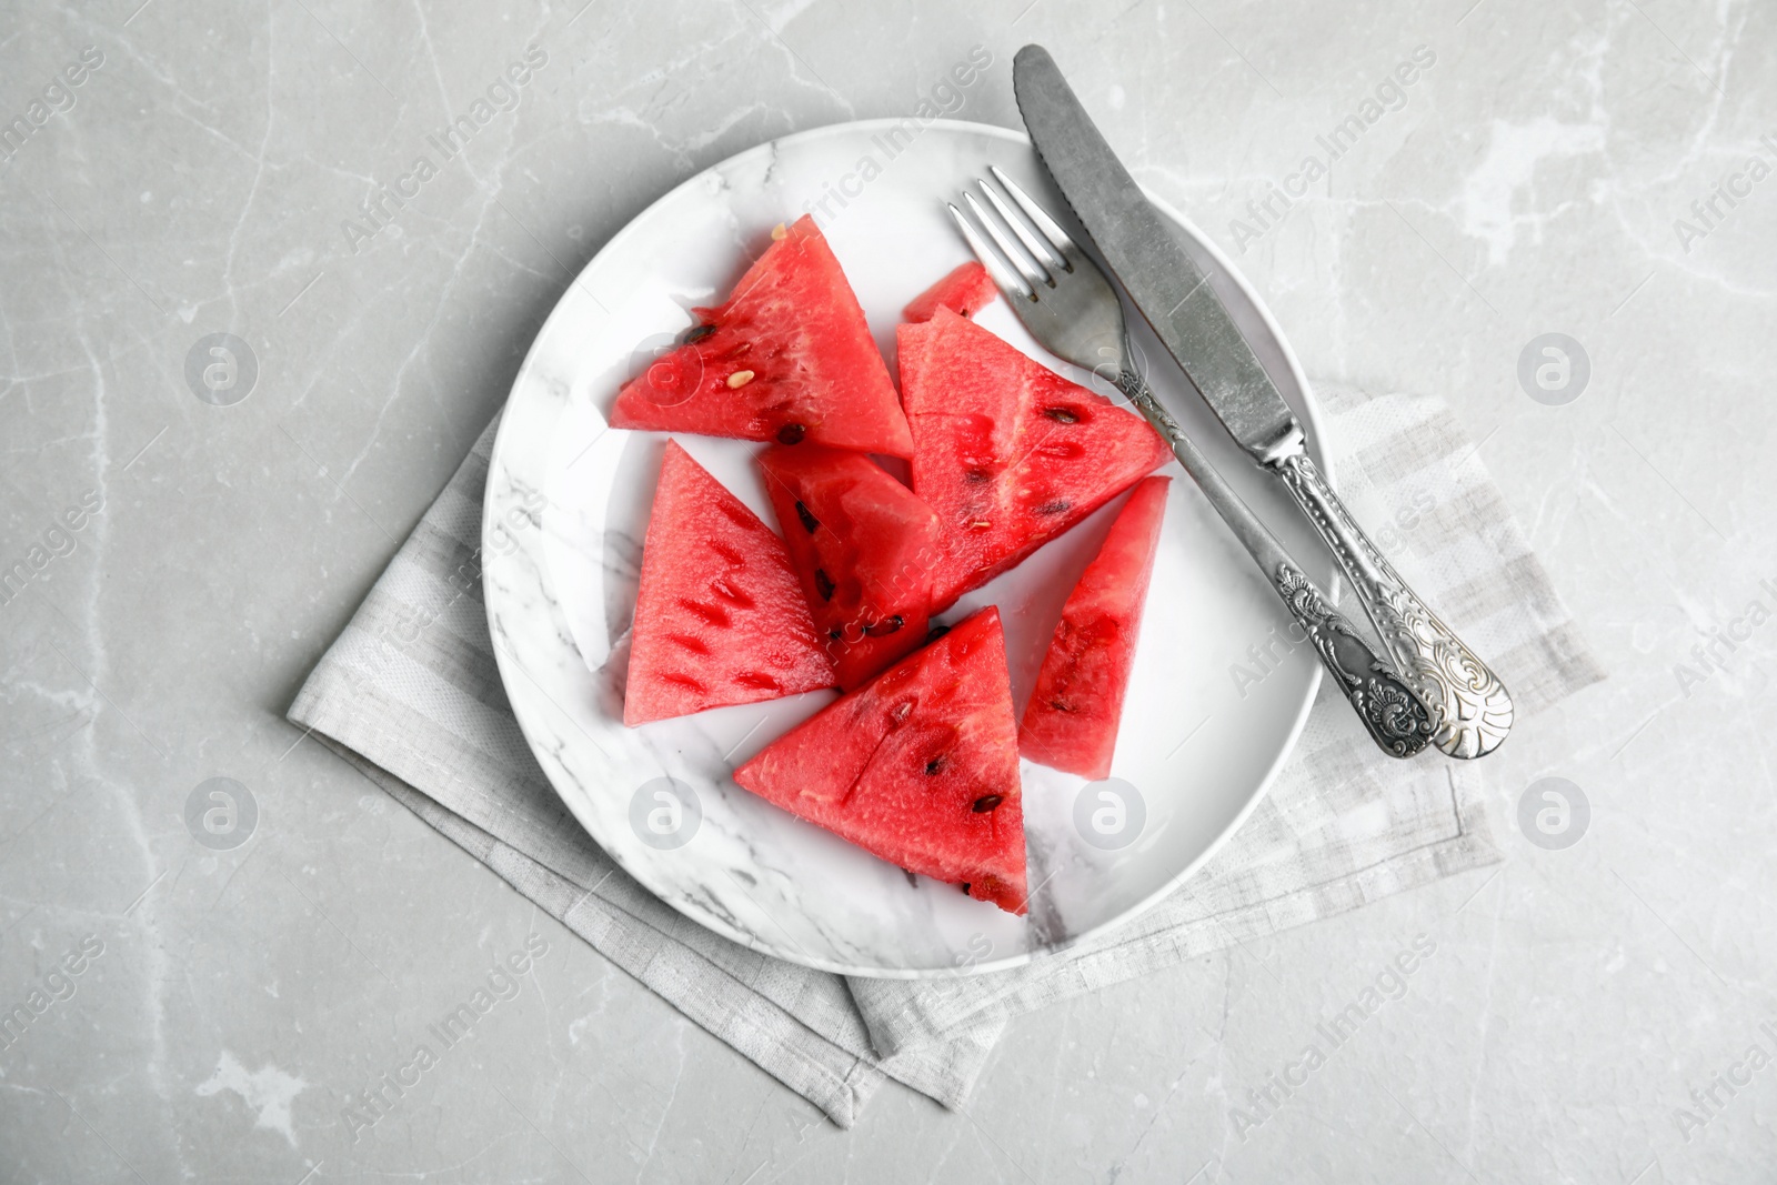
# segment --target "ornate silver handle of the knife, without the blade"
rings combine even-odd
[[[1514,716],[1500,677],[1407,588],[1308,453],[1292,451],[1271,465],[1333,549],[1402,677],[1432,709],[1432,744],[1450,757],[1500,748]]]

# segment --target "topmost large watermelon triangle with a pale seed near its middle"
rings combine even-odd
[[[613,428],[912,455],[888,368],[814,219],[773,242],[725,304],[693,313],[686,345],[617,394]]]

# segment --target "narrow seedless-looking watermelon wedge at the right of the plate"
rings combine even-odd
[[[1093,782],[1111,776],[1167,485],[1171,478],[1136,485],[1068,593],[1018,728],[1018,750],[1031,760]]]

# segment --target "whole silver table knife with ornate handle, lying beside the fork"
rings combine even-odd
[[[1402,677],[1436,718],[1432,744],[1482,757],[1512,727],[1498,675],[1438,620],[1363,533],[1306,451],[1301,421],[1240,336],[1210,277],[1105,144],[1048,52],[1013,59],[1013,94],[1038,156],[1111,274],[1230,435],[1290,497],[1351,579]]]

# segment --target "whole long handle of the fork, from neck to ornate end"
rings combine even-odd
[[[1425,702],[1400,679],[1393,664],[1352,629],[1326,593],[1295,567],[1283,544],[1240,501],[1240,496],[1233,492],[1233,487],[1210,460],[1198,451],[1178,421],[1148,391],[1148,384],[1134,371],[1125,370],[1118,375],[1116,386],[1148,418],[1155,432],[1173,446],[1178,464],[1198,483],[1203,497],[1223,517],[1235,538],[1246,545],[1253,561],[1271,581],[1272,592],[1278,593],[1283,608],[1294,618],[1290,636],[1295,641],[1313,645],[1320,664],[1333,677],[1333,684],[1345,696],[1345,702],[1358,712],[1370,739],[1393,757],[1413,757],[1423,750],[1436,732],[1432,711]]]

